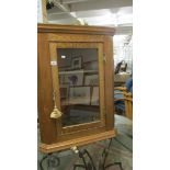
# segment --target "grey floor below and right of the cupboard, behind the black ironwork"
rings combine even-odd
[[[132,122],[127,118],[116,115],[115,116],[115,127],[117,128],[118,135],[112,139],[111,147],[109,149],[109,156],[106,158],[106,165],[113,162],[121,162],[124,170],[133,170],[133,138],[132,138]],[[39,132],[37,131],[39,144]],[[79,148],[80,150],[87,149],[95,167],[99,167],[100,160],[102,159],[103,149],[109,146],[109,139],[98,143],[93,143],[86,147]],[[60,163],[56,168],[47,168],[47,161],[43,162],[44,170],[73,170],[73,165],[82,165],[82,160],[79,158],[78,154],[71,150],[54,152],[54,156],[59,157]],[[37,170],[39,168],[39,161],[45,155],[37,150]],[[88,158],[86,157],[86,160]],[[55,162],[56,163],[56,162]],[[54,165],[55,165],[54,163]],[[82,170],[82,168],[77,168],[76,170]],[[107,170],[121,170],[118,166],[107,168]]]

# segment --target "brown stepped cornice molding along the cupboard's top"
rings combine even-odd
[[[37,32],[38,33],[114,35],[115,30],[114,27],[105,27],[105,26],[37,24]]]

